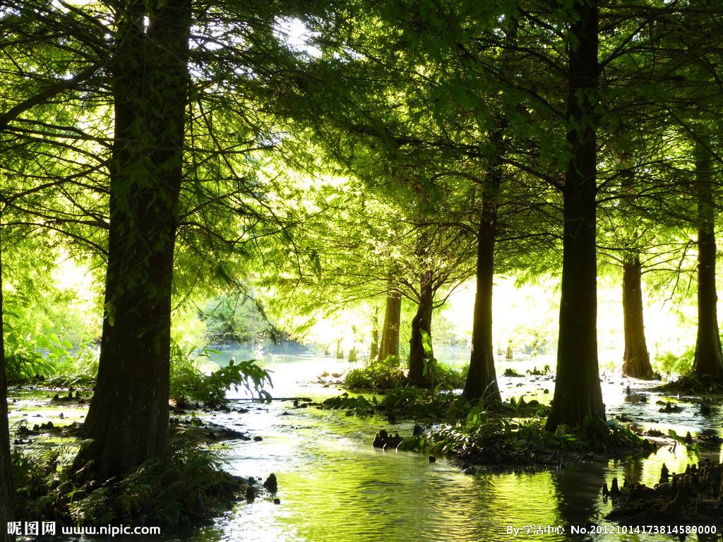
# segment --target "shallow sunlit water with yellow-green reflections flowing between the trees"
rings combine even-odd
[[[223,351],[215,361],[226,363],[241,352]],[[529,362],[542,367],[544,360]],[[545,363],[549,363],[545,361]],[[266,356],[263,364],[273,371],[276,397],[312,397],[321,400],[340,390],[317,382],[317,375],[342,372],[346,361],[311,355]],[[518,371],[519,364],[513,364]],[[500,372],[504,370],[502,365]],[[605,378],[604,400],[609,416],[623,415],[639,421],[643,429],[655,427],[678,434],[702,429],[720,432],[719,407],[711,416],[701,416],[697,407],[682,398],[679,413],[659,413],[659,397],[647,403],[626,401],[625,385],[640,395],[649,395],[649,384],[629,379]],[[551,377],[500,377],[505,397],[548,400]],[[548,393],[544,393],[548,390]],[[242,397],[234,392],[231,397]],[[629,401],[629,398],[628,398]],[[22,405],[19,405],[22,407]],[[332,410],[294,408],[289,401],[271,404],[244,403],[247,413],[215,413],[208,418],[231,427],[241,427],[262,442],[228,442],[228,470],[241,476],[278,477],[280,505],[267,499],[242,502],[213,525],[183,533],[166,533],[168,541],[669,541],[664,535],[570,535],[570,526],[617,525],[604,520],[612,504],[604,502],[602,483],[617,477],[622,483],[653,484],[662,463],[671,473],[685,469],[697,458],[688,457],[685,447],[666,446],[646,459],[628,458],[607,463],[570,464],[562,470],[535,473],[479,473],[463,475],[442,458],[429,463],[426,455],[414,452],[384,452],[372,447],[374,434],[388,423],[376,418],[355,418]],[[46,410],[38,409],[41,415]],[[284,415],[286,413],[286,415]],[[13,409],[12,418],[20,416]],[[33,413],[35,416],[35,412]],[[74,416],[75,417],[75,416]],[[42,418],[38,418],[42,421]],[[411,432],[411,423],[394,428]],[[720,459],[720,450],[702,457]],[[510,530],[521,529],[517,535]],[[555,532],[562,528],[564,533]],[[535,530],[543,533],[535,535]],[[119,540],[121,538],[115,538]],[[140,537],[132,538],[141,540]],[[156,538],[157,539],[157,538]],[[696,540],[693,536],[688,540]],[[131,538],[129,538],[131,540]],[[720,538],[700,538],[720,540]]]

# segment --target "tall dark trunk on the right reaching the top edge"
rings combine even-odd
[[[562,295],[557,377],[547,429],[574,426],[587,416],[605,418],[597,361],[596,128],[599,66],[596,0],[573,4],[570,26],[568,142],[565,173]]]

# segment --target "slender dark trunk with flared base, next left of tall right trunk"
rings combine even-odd
[[[497,172],[499,173],[499,172]],[[497,223],[497,189],[500,176],[490,178],[482,202],[482,217],[477,236],[477,291],[472,317],[472,353],[463,397],[483,402],[500,402],[500,388],[495,373],[495,350],[492,348],[492,283],[495,278],[495,236]]]

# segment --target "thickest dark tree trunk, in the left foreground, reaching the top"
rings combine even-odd
[[[166,448],[176,212],[189,75],[189,0],[144,26],[145,2],[119,13],[115,141],[98,384],[75,461],[82,477],[124,476]]]

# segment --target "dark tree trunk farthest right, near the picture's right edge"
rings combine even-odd
[[[723,382],[723,355],[716,304],[716,239],[713,173],[709,139],[696,142],[698,189],[698,337],[693,373]]]

